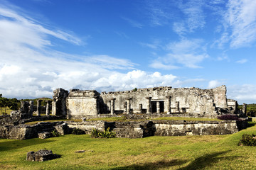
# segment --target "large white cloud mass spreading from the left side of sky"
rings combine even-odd
[[[170,86],[172,74],[144,72],[137,64],[108,55],[79,56],[53,50],[49,36],[80,45],[82,40],[10,8],[0,6],[0,93],[6,97],[52,96],[53,90],[117,91]],[[132,70],[119,72],[117,70]]]

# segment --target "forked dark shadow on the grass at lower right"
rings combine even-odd
[[[213,154],[205,154],[202,157],[198,157],[196,158],[193,162],[191,162],[190,164],[188,164],[188,166],[180,168],[178,170],[188,170],[188,169],[203,169],[203,168],[210,168],[210,166],[212,166],[213,164],[223,161],[223,160],[230,160],[232,161],[235,158],[238,158],[236,156],[233,157],[219,157],[221,154],[225,154],[230,152],[230,150],[228,151],[224,151],[224,152],[215,152]]]

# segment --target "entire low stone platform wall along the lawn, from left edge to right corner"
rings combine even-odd
[[[61,135],[72,132],[73,128],[90,134],[93,129],[116,132],[117,137],[142,138],[149,136],[182,136],[182,135],[227,135],[245,128],[247,121],[186,121],[186,120],[145,120],[129,122],[41,122],[36,125],[0,126],[0,137],[25,140],[38,137],[38,133],[57,130]]]

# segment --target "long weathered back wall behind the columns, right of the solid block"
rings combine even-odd
[[[131,111],[137,113],[139,105],[142,104],[142,110],[146,110],[147,99],[151,97],[151,103],[160,101],[161,107],[168,113],[168,99],[166,96],[171,96],[171,112],[181,113],[215,113],[215,107],[227,108],[226,87],[220,86],[215,89],[198,89],[198,88],[178,88],[171,87],[156,87],[148,89],[137,89],[137,91],[116,91],[102,92],[100,97],[107,105],[108,110],[102,112],[107,113],[111,108],[111,100],[114,100],[114,110],[126,110],[125,103],[129,98]],[[179,108],[177,108],[178,102]],[[155,108],[155,109],[154,109]],[[152,106],[153,113],[156,112],[156,106]]]

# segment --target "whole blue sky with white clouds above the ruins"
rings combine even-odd
[[[256,1],[0,0],[0,93],[211,89],[256,103]]]

